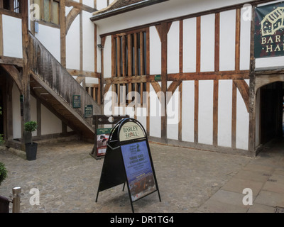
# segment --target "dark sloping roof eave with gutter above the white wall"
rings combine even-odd
[[[95,14],[94,16],[92,16],[90,18],[91,21],[98,21],[98,20],[101,20],[103,18],[108,18],[110,16],[115,16],[115,15],[118,15],[118,14],[121,14],[121,13],[126,13],[128,11],[133,11],[135,9],[140,9],[140,8],[143,8],[143,7],[146,7],[146,6],[151,6],[153,4],[158,4],[158,3],[161,3],[163,1],[169,1],[169,0],[145,0],[145,1],[139,1],[135,4],[130,4],[128,6],[123,6],[123,7],[120,7],[118,9],[113,9],[113,10],[110,10],[110,11],[105,11],[105,12],[102,12],[102,13],[97,13]]]

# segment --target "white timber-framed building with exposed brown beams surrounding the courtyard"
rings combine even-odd
[[[0,0],[0,133],[23,148],[34,120],[35,139],[92,140],[92,105],[151,141],[255,156],[283,136],[284,57],[255,57],[256,8],[275,3]],[[280,52],[284,39],[259,42]]]

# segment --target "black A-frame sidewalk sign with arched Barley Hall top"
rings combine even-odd
[[[132,126],[124,127],[127,123]],[[126,133],[126,140],[121,140],[123,128],[122,133]],[[132,138],[129,138],[129,135]],[[161,201],[146,131],[141,123],[133,118],[122,119],[111,130],[96,202],[99,192],[116,187],[119,184],[124,184],[124,187],[127,184],[133,213],[133,202],[149,194],[158,192]]]

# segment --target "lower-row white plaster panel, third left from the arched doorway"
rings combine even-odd
[[[199,82],[198,143],[213,143],[213,80]]]

